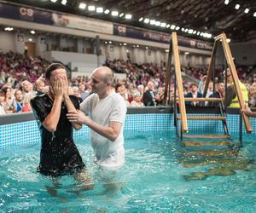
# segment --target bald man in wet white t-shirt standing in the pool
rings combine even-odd
[[[91,76],[94,94],[80,104],[81,111],[67,113],[71,122],[90,128],[95,162],[107,169],[125,164],[123,126],[127,108],[123,97],[112,91],[112,81],[111,69],[107,66],[97,68]]]

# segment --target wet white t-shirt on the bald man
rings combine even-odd
[[[80,109],[97,124],[109,126],[110,121],[122,124],[115,141],[110,141],[96,131],[90,130],[90,142],[97,164],[107,168],[125,164],[123,126],[127,107],[124,98],[113,92],[100,100],[97,94],[92,94],[80,104]]]

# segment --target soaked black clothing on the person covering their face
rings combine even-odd
[[[73,105],[79,109],[76,96],[69,95]],[[67,119],[67,107],[61,102],[61,116],[55,132],[44,128],[44,119],[53,107],[48,95],[38,95],[31,101],[32,110],[41,133],[41,154],[38,171],[46,176],[73,174],[84,168],[79,150],[73,141],[73,125]]]

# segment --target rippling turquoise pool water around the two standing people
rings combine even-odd
[[[36,172],[40,144],[0,151],[0,212],[255,212],[256,143],[236,155],[197,156],[173,132],[125,132],[119,190],[106,192],[87,137],[76,139],[95,188],[79,191],[70,176],[53,182]],[[228,175],[228,176],[224,176]]]

